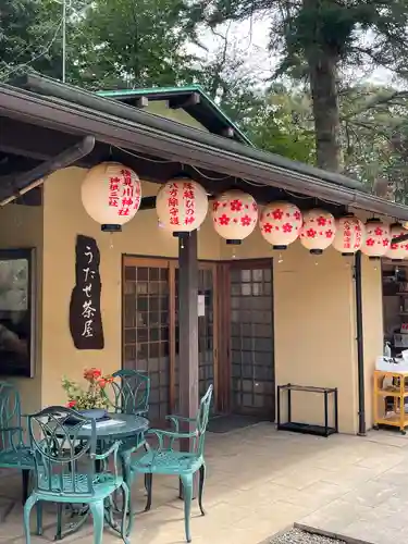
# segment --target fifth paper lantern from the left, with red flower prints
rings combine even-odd
[[[313,255],[321,255],[331,244],[336,234],[334,217],[324,210],[314,208],[304,213],[304,224],[300,228],[300,244]]]

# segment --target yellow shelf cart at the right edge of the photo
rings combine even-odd
[[[408,426],[408,413],[405,412],[406,398],[408,399],[408,372],[375,370],[374,429],[379,429],[379,425],[397,426],[401,434],[406,434]],[[387,399],[392,403],[387,403]]]

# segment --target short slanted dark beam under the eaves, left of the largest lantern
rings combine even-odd
[[[62,153],[59,153],[49,161],[42,162],[28,172],[23,172],[15,176],[10,175],[0,177],[0,206],[5,206],[25,195],[28,190],[42,185],[45,176],[52,174],[52,172],[57,170],[74,164],[83,157],[89,154],[94,147],[94,136],[86,136],[78,144],[65,149]]]

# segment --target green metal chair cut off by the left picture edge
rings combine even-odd
[[[24,505],[28,497],[34,456],[23,434],[18,391],[11,383],[0,382],[0,468],[22,471]]]

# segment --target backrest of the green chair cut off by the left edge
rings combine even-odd
[[[23,445],[20,393],[8,382],[0,382],[0,449]]]

